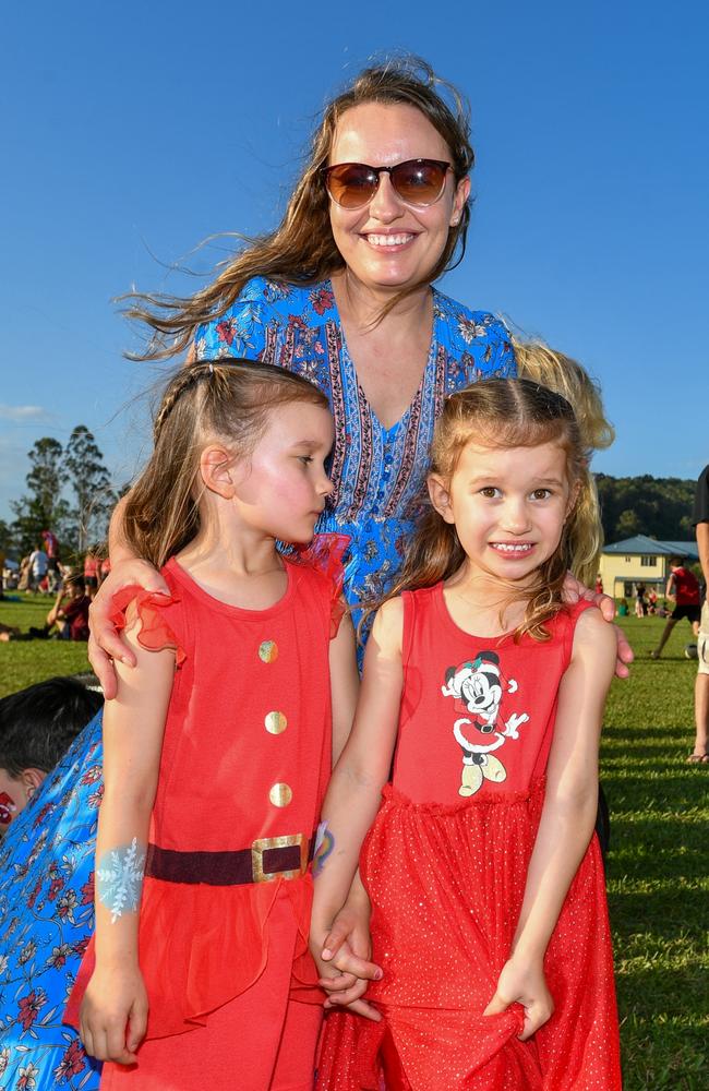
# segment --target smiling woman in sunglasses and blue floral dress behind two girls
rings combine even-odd
[[[319,531],[350,537],[345,592],[357,607],[396,576],[424,495],[433,424],[454,389],[516,374],[507,331],[442,295],[465,252],[473,164],[460,95],[422,61],[361,72],[326,107],[281,224],[191,299],[137,296],[148,357],[240,355],[314,382],[335,419],[333,491]],[[120,655],[108,602],[127,580],[156,588],[121,535],[93,631]],[[92,661],[112,691],[111,668]]]

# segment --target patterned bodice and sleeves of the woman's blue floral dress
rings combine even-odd
[[[327,395],[335,418],[336,488],[316,531],[351,538],[345,594],[352,604],[380,596],[400,568],[402,544],[422,508],[443,399],[480,379],[516,375],[503,323],[436,289],[421,385],[388,429],[357,381],[329,280],[303,288],[254,277],[221,317],[199,327],[195,348],[200,360],[241,353],[277,364]]]

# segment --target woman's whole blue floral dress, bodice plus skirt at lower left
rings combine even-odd
[[[313,288],[251,280],[200,327],[200,359],[240,356],[310,379],[335,418],[329,504],[316,527],[351,538],[345,594],[377,596],[398,572],[421,506],[434,420],[447,394],[514,376],[504,325],[434,290],[433,336],[410,406],[392,428],[360,387],[329,281]],[[100,714],[74,742],[0,848],[0,1091],[95,1091],[89,1060],[61,1018],[93,931],[93,870],[101,795]]]

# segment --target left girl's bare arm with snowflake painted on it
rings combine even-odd
[[[137,922],[148,825],[160,764],[175,654],[137,643],[134,611],[125,630],[132,669],[117,661],[118,697],[104,711],[104,799],[96,842],[96,969],[81,1007],[86,1052],[135,1062],[148,1002],[137,961]]]

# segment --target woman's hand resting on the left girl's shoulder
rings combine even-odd
[[[135,656],[121,640],[116,626],[109,618],[111,600],[121,587],[137,584],[146,591],[161,591],[169,595],[169,588],[161,575],[147,561],[133,558],[130,561],[119,561],[96,592],[96,598],[88,610],[88,661],[94,668],[104,691],[106,700],[116,696],[116,672],[111,660],[119,659],[127,667],[135,667]]]

